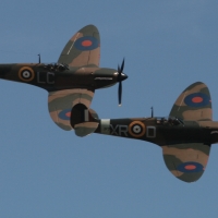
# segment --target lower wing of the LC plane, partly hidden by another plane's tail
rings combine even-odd
[[[48,96],[48,109],[53,122],[61,129],[70,131],[71,110],[76,104],[83,104],[87,108],[94,96],[93,89],[64,89],[50,92]]]

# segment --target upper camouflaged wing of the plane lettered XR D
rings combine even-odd
[[[208,87],[201,82],[190,85],[175,100],[170,116],[183,120],[211,121],[211,100]]]

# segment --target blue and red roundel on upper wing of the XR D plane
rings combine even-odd
[[[193,93],[184,98],[184,102],[190,107],[205,107],[210,104],[210,98],[204,93]]]

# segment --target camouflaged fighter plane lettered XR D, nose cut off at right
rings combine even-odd
[[[210,146],[218,143],[209,89],[201,82],[182,92],[167,118],[98,119],[94,110],[77,104],[72,109],[71,124],[78,136],[94,132],[159,145],[167,168],[185,182],[201,178]]]

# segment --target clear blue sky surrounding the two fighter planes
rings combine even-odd
[[[168,116],[180,93],[208,85],[218,120],[215,0],[2,0],[0,62],[55,62],[87,24],[101,37],[100,66],[125,57],[118,86],[97,90],[100,118]],[[46,90],[0,81],[0,217],[217,217],[218,147],[195,183],[175,179],[161,148],[92,134],[80,138],[50,119]]]

